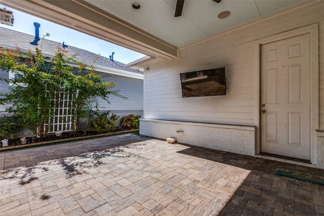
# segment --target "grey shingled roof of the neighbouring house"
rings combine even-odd
[[[20,49],[34,51],[36,47],[41,49],[42,46],[43,54],[54,56],[55,52],[57,51],[57,47],[62,46],[62,44],[60,44],[59,42],[55,42],[45,38],[41,38],[41,40],[38,41],[38,46],[34,46],[29,43],[34,40],[34,37],[34,35],[25,34],[19,31],[14,31],[11,29],[0,27],[0,46],[3,47],[18,47]],[[65,48],[65,50],[68,51],[68,55],[78,54],[75,60],[89,65],[92,64],[94,59],[98,57],[97,54],[72,46],[68,46],[68,48]],[[99,56],[99,59],[96,62],[95,66],[114,68],[134,73],[143,73],[143,71],[138,71],[135,69],[125,67],[124,63],[111,61],[109,58],[103,56]]]

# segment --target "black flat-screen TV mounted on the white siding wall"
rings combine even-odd
[[[225,67],[180,73],[182,97],[226,95]]]

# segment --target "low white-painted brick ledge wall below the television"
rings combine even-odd
[[[255,126],[140,119],[140,134],[178,143],[255,155]]]

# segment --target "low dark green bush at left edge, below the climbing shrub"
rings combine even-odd
[[[19,124],[17,116],[1,116],[0,117],[0,140],[13,139],[14,134],[21,131],[22,127]]]

